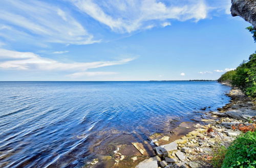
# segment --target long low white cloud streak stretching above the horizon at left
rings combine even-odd
[[[85,72],[88,69],[112,66],[112,65],[121,65],[121,64],[130,62],[132,60],[134,59],[127,58],[119,61],[98,61],[98,62],[89,62],[89,63],[84,63],[84,62],[62,63],[52,59],[40,57],[39,55],[32,52],[18,52],[18,51],[0,49],[0,68],[2,69],[44,70],[44,71],[54,70],[54,71],[69,71],[69,73],[71,71]],[[88,72],[87,74],[89,75],[90,73]]]

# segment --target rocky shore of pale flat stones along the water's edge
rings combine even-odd
[[[230,103],[218,111],[201,111],[205,115],[201,121],[182,122],[169,134],[154,133],[148,142],[118,146],[111,156],[100,159],[101,164],[97,158],[86,167],[211,167],[216,148],[228,147],[240,133],[255,127],[255,101],[238,89],[227,95]],[[125,155],[125,151],[133,148],[137,151]]]

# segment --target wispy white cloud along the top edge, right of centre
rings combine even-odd
[[[158,25],[168,19],[198,21],[207,16],[204,0],[172,1],[165,3],[157,0],[126,1],[112,0],[97,2],[93,0],[69,0],[81,12],[90,15],[95,20],[119,33],[131,33],[143,30],[158,22]],[[163,24],[163,23],[162,23]],[[157,24],[156,24],[157,25]]]

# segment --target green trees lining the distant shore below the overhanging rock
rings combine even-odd
[[[244,61],[236,70],[223,74],[219,82],[229,82],[240,88],[246,95],[256,97],[256,52],[251,54],[249,61]]]

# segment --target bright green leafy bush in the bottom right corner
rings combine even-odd
[[[221,167],[255,167],[256,132],[241,134],[228,147]]]

